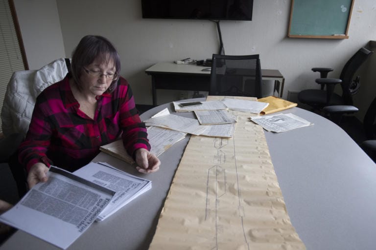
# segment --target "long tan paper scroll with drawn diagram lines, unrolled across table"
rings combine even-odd
[[[305,250],[262,127],[235,114],[233,138],[190,138],[150,250]]]

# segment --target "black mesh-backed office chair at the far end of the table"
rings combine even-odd
[[[261,66],[258,55],[213,54],[209,95],[262,98]]]

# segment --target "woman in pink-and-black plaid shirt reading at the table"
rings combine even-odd
[[[120,57],[111,42],[101,36],[81,39],[72,55],[71,73],[38,96],[19,147],[30,188],[47,181],[50,165],[74,171],[88,164],[99,146],[120,135],[138,171],[159,169],[132,90],[119,72]]]

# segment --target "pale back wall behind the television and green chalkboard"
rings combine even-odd
[[[40,2],[46,6],[42,8]],[[65,56],[71,56],[73,48],[84,35],[107,37],[118,48],[122,62],[121,75],[132,85],[138,104],[152,103],[151,79],[144,73],[147,67],[156,62],[187,57],[197,60],[211,58],[211,54],[218,51],[218,35],[211,21],[142,19],[141,0],[56,2]],[[26,17],[43,16],[40,19],[44,23],[54,23],[54,31],[51,32],[57,32],[56,12],[52,6],[54,1],[15,0],[15,3],[18,12],[23,9]],[[34,7],[35,4],[38,8],[46,9],[41,11]],[[370,40],[376,40],[375,0],[355,0],[349,28],[350,38],[344,40],[287,38],[290,5],[290,0],[256,0],[253,21],[221,22],[226,54],[260,54],[262,68],[279,69],[285,76],[284,98],[287,98],[288,90],[317,87],[314,79],[318,73],[311,72],[310,68],[330,66],[335,70],[329,77],[338,77],[343,65],[356,50],[367,45]],[[27,14],[31,9],[37,11],[37,14]],[[46,10],[52,11],[45,13]],[[23,19],[20,16],[23,15],[19,14],[19,19]],[[59,36],[56,33],[47,37],[49,32],[43,31],[42,36],[38,36],[35,35],[35,27],[39,29],[38,22],[31,21],[29,25],[24,25],[30,27],[30,31],[22,28],[25,46],[34,50],[27,52],[29,61],[37,61],[41,52],[46,57],[47,54],[56,53],[55,45],[53,49],[48,47],[57,43]],[[38,46],[39,43],[43,45]],[[60,46],[57,44],[58,50]],[[359,107],[367,107],[370,99],[376,95],[376,87],[373,86],[376,75],[371,70],[371,65],[375,67],[375,64],[371,64],[372,60],[359,70],[362,86],[354,98]],[[159,103],[169,102],[178,95],[176,91],[158,90]]]

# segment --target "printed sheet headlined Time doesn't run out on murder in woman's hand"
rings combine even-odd
[[[67,249],[106,208],[115,191],[51,166],[0,221]]]

